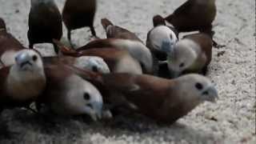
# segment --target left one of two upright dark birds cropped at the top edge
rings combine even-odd
[[[53,43],[53,38],[62,38],[62,15],[54,0],[31,0],[28,25],[30,49],[33,49],[34,44]],[[58,54],[56,46],[54,51]]]

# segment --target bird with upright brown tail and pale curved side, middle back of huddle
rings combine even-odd
[[[109,42],[107,42],[108,40],[105,40],[107,44],[112,44],[114,47],[128,50],[130,55],[137,59],[142,65],[143,73],[153,74],[154,71],[156,71],[154,70],[156,67],[154,67],[154,58],[150,50],[143,44],[142,40],[139,39],[136,34],[120,26],[114,26],[113,23],[106,18],[102,18],[102,26],[106,30],[107,39],[115,39],[110,40]],[[97,43],[100,41],[101,40],[96,40],[89,43],[87,47],[94,46],[94,44],[98,45]],[[104,44],[106,44],[105,42],[100,43],[104,46]],[[79,50],[82,50],[82,48]]]

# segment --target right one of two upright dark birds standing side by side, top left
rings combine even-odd
[[[91,34],[96,37],[96,32],[94,30],[96,6],[96,0],[66,0],[62,16],[68,30],[67,37],[70,42],[71,30],[76,30],[85,26],[89,26]]]

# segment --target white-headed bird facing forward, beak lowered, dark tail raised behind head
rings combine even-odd
[[[153,24],[154,28],[147,34],[146,46],[159,61],[166,61],[167,53],[178,42],[178,31],[172,26],[166,26],[165,19],[160,15],[154,16]]]

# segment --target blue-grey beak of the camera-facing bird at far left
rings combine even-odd
[[[15,57],[16,63],[22,70],[28,70],[30,66],[32,66],[32,62],[30,62],[30,60],[31,60],[30,55],[25,52],[18,54]]]

